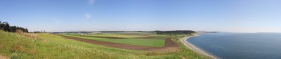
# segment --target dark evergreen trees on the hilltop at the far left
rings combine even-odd
[[[10,26],[8,22],[1,22],[0,21],[0,30],[6,32],[17,32],[17,30],[21,30],[22,32],[28,32],[27,28],[18,27],[18,26]]]

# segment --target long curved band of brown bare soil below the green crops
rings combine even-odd
[[[57,34],[58,35],[58,34]],[[129,45],[129,44],[118,44],[118,43],[112,43],[107,41],[96,41],[96,40],[90,40],[90,39],[82,39],[78,37],[69,37],[69,36],[63,36],[58,35],[61,37],[65,37],[66,39],[73,39],[77,41],[83,41],[86,43],[91,44],[98,44],[102,46],[110,46],[115,48],[124,48],[124,49],[130,49],[130,50],[138,50],[138,51],[177,51],[179,46],[174,43],[174,41],[171,41],[170,38],[167,38],[165,41],[165,46],[162,47],[153,47],[153,46],[136,46],[136,45]]]

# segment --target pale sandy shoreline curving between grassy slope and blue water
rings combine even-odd
[[[207,53],[206,51],[203,51],[201,48],[198,48],[197,46],[194,46],[193,44],[190,44],[187,40],[190,37],[197,37],[198,35],[193,35],[193,36],[189,36],[189,37],[183,37],[180,39],[181,43],[183,43],[186,47],[188,47],[190,50],[195,51],[197,53],[203,54],[203,55],[207,55],[211,58],[214,59],[218,59],[218,57],[216,57],[215,55],[211,55],[210,53]]]

